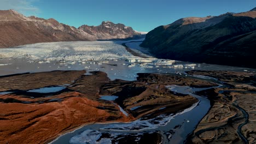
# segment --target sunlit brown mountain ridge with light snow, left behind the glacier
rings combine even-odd
[[[53,42],[138,38],[141,33],[118,23],[102,22],[100,26],[79,28],[55,19],[26,17],[15,10],[0,10],[0,47]]]

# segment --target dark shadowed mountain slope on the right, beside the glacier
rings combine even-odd
[[[141,46],[159,58],[256,68],[255,17],[256,8],[179,19],[150,31]]]

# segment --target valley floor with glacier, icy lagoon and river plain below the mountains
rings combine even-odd
[[[2,49],[5,57],[0,67],[5,72],[1,71],[0,77],[0,128],[4,132],[1,139],[11,143],[48,143],[54,139],[52,143],[80,143],[84,137],[95,135],[86,140],[143,143],[152,137],[155,143],[183,143],[188,136],[187,142],[220,142],[222,139],[218,136],[223,127],[219,125],[235,115],[229,122],[232,121],[236,129],[227,125],[225,129],[229,132],[222,135],[223,140],[243,142],[242,136],[245,136],[253,142],[253,129],[244,128],[252,124],[254,118],[246,119],[239,107],[253,115],[255,109],[246,105],[254,100],[255,69],[137,57],[121,45],[125,43],[136,52],[141,43],[137,41],[19,47],[19,51],[34,51],[35,46],[49,50],[45,46],[67,45],[70,50],[80,52],[68,52],[66,59],[57,59],[47,51],[34,51],[27,56],[17,55],[15,49]],[[83,48],[81,43],[88,46]],[[85,54],[97,49],[104,50],[98,59]],[[61,46],[55,50],[66,48]],[[114,57],[112,51],[120,53],[115,52]],[[244,99],[243,91],[252,99]],[[101,99],[104,95],[115,98]],[[216,108],[222,105],[227,110],[223,108],[223,112],[217,114]],[[216,126],[211,117],[215,117]],[[9,123],[13,126],[7,127]],[[213,127],[216,127],[214,131]],[[212,137],[204,137],[213,133]]]

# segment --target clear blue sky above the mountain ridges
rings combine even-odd
[[[148,32],[182,17],[239,13],[256,7],[256,0],[0,0],[0,9],[14,9],[79,27],[97,26],[102,21],[124,23]]]

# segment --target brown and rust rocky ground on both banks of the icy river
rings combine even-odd
[[[153,118],[176,113],[197,102],[190,95],[166,88],[177,85],[215,87],[196,92],[211,100],[211,109],[188,137],[188,143],[255,143],[255,73],[187,71],[191,76],[213,77],[223,82],[222,87],[205,78],[175,74],[139,73],[136,81],[112,81],[100,71],[85,73],[73,70],[1,76],[0,140],[44,143],[84,124],[130,122],[146,115]],[[104,100],[102,95],[115,95],[117,99]],[[144,134],[141,142],[152,136],[155,143],[161,141],[161,136],[153,133]]]

